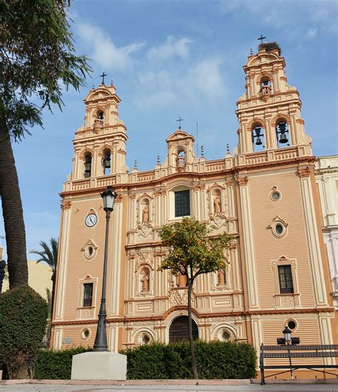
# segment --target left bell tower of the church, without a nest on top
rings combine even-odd
[[[70,180],[126,174],[126,126],[118,119],[121,99],[114,86],[100,84],[89,91],[84,103],[84,124],[75,134]]]

